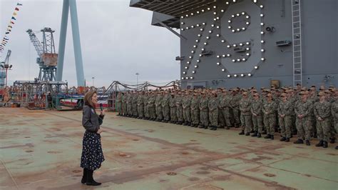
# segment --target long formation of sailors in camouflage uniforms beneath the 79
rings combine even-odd
[[[338,90],[333,86],[317,91],[283,87],[251,89],[169,89],[156,91],[119,92],[116,108],[119,116],[170,122],[185,126],[217,130],[241,127],[240,135],[290,141],[297,134],[295,144],[327,148],[334,143],[338,131]],[[338,149],[338,146],[336,147]]]

